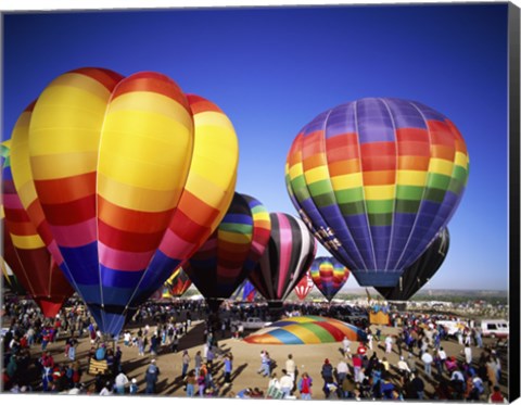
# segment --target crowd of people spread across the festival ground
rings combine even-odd
[[[319,309],[316,305],[291,305],[285,307],[285,316],[331,315],[331,308],[327,313]],[[156,359],[179,353],[180,374],[175,381],[187,396],[505,401],[499,388],[505,382],[500,355],[484,344],[478,328],[461,329],[453,338],[440,324],[446,318],[415,313],[390,313],[393,333],[384,332],[391,330],[386,326],[366,325],[364,341],[350,342],[345,337],[340,347],[342,358],[333,364],[330,358],[335,355],[331,353],[316,370],[301,370],[291,353],[277,360],[262,350],[257,372],[266,379],[265,385],[236,392],[236,359],[230,350],[223,350],[219,339],[240,338],[236,320],[252,316],[266,319],[270,314],[266,305],[232,305],[225,311],[226,315],[213,319],[201,302],[149,303],[140,307],[120,337],[106,340],[79,302],[69,303],[55,319],[45,319],[30,302],[5,303],[2,318],[10,322],[2,340],[3,391],[157,394],[162,392],[157,387],[162,375]],[[180,351],[179,341],[194,320],[203,327],[203,346],[194,353]],[[59,340],[64,350],[56,353],[50,347]],[[460,355],[447,355],[444,344],[448,340],[460,346]],[[78,355],[80,341],[88,341],[90,350]],[[120,344],[135,350],[138,358],[147,356],[150,360],[142,378],[138,377],[141,390],[138,379],[128,377]],[[392,357],[398,360],[391,362]],[[105,369],[87,383],[91,359],[101,362]],[[305,363],[305,358],[298,360]]]

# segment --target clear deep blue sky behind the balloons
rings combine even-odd
[[[237,190],[271,212],[295,214],[285,156],[322,111],[365,97],[432,106],[463,135],[471,166],[425,288],[508,288],[506,4],[7,13],[3,29],[2,138],[66,71],[161,72],[227,113]]]

